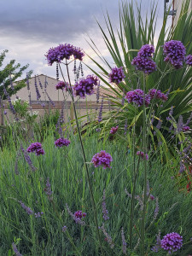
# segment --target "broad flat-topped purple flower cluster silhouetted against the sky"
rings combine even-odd
[[[72,44],[59,44],[54,48],[50,48],[45,56],[51,66],[54,62],[61,62],[63,59],[69,60],[72,55],[74,59],[82,61],[84,52]]]

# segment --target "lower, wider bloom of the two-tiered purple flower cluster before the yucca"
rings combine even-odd
[[[150,58],[143,58],[137,55],[132,61],[131,65],[136,66],[137,70],[143,71],[143,73],[153,73],[156,69],[156,63]]]

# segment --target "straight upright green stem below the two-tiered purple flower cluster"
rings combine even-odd
[[[147,203],[147,135],[146,135],[146,106],[145,106],[145,74],[143,73],[143,153],[144,153],[144,199],[143,199],[143,218],[142,218],[142,227],[141,227],[141,255],[144,256],[145,250],[145,214],[146,214],[146,203]]]

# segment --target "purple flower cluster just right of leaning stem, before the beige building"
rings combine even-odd
[[[76,96],[84,98],[94,93],[94,85],[98,85],[99,79],[94,75],[88,75],[86,79],[80,79],[74,84],[73,90]]]

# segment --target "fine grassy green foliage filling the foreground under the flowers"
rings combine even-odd
[[[96,239],[96,229],[90,202],[90,191],[87,183],[84,160],[81,154],[78,137],[71,136],[72,143],[68,148],[55,148],[54,136],[51,132],[43,142],[46,154],[37,157],[30,154],[32,163],[37,167],[32,172],[20,155],[18,172],[15,174],[16,150],[19,142],[12,141],[9,147],[3,146],[0,152],[0,255],[9,255],[9,249],[15,239],[20,238],[18,248],[22,255],[77,255],[69,234],[82,255],[100,255],[99,244]],[[30,143],[23,141],[24,148]],[[111,249],[101,230],[102,247],[105,255],[123,255],[121,228],[125,230],[125,239],[129,247],[129,221],[131,199],[125,194],[125,188],[131,193],[133,177],[133,159],[128,153],[127,144],[119,140],[104,142],[98,140],[98,134],[84,137],[84,148],[87,160],[100,150],[106,150],[113,157],[112,168],[103,170],[89,165],[91,184],[97,206],[98,222],[102,226],[102,193],[106,189],[106,205],[109,219],[105,228],[112,237],[114,247]],[[146,252],[148,255],[166,255],[166,252],[151,252],[155,244],[155,236],[161,230],[161,238],[170,232],[177,232],[183,236],[182,250],[174,255],[188,255],[192,252],[189,243],[192,230],[191,211],[192,195],[185,191],[178,191],[176,178],[171,177],[179,171],[176,165],[160,164],[158,157],[148,164],[148,181],[151,194],[159,198],[160,212],[154,223],[155,201],[149,201],[147,207]],[[172,168],[173,167],[173,168]],[[94,173],[93,173],[94,172]],[[44,188],[47,177],[53,191],[52,204]],[[136,195],[143,194],[143,164],[139,167]],[[23,201],[34,212],[44,212],[41,218],[28,215],[20,207],[18,201]],[[85,226],[75,224],[66,210],[66,204],[72,212],[82,210],[87,213],[84,218]],[[133,243],[137,244],[140,217],[142,212],[135,201]],[[62,226],[67,226],[68,233],[63,233]],[[135,253],[139,255],[138,247]],[[12,254],[10,254],[12,255]],[[130,255],[130,253],[127,253]]]

